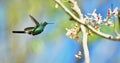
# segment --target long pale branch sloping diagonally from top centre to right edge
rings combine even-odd
[[[80,19],[79,19],[78,17],[76,17],[71,11],[69,11],[69,9],[68,9],[63,3],[61,3],[60,0],[55,0],[55,2],[56,2],[61,8],[63,8],[64,11],[65,11],[68,15],[70,15],[71,17],[73,17],[73,19],[74,19],[76,22],[84,25],[85,27],[87,27],[88,29],[90,29],[93,33],[95,33],[95,34],[97,34],[97,35],[99,35],[99,36],[101,36],[101,37],[103,37],[103,38],[106,38],[106,39],[120,41],[120,37],[119,37],[119,36],[114,37],[114,36],[112,36],[112,35],[102,33],[102,32],[100,32],[100,31],[97,31],[97,30],[96,30],[95,28],[93,28],[92,26],[90,26],[90,25],[88,25],[88,24],[85,24],[84,21],[80,20]],[[76,10],[77,10],[77,9],[76,9]]]

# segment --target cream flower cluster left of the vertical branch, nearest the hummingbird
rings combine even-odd
[[[67,30],[66,36],[76,41],[79,40],[78,33],[80,31],[80,27],[78,24],[74,24],[71,29],[66,28],[66,30]]]

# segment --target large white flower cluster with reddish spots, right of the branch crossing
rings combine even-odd
[[[94,28],[98,29],[101,26],[110,26],[113,27],[114,23],[112,23],[111,18],[116,17],[118,14],[118,7],[116,7],[113,11],[111,9],[108,9],[107,17],[105,19],[102,19],[101,14],[96,13],[96,9],[93,11],[93,13],[89,13],[90,17],[86,16],[84,18],[85,22]]]

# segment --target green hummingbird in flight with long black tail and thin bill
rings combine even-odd
[[[27,33],[29,35],[38,35],[44,31],[44,28],[47,24],[53,24],[53,23],[47,23],[46,21],[38,22],[33,16],[29,15],[31,20],[35,23],[34,27],[27,27],[24,29],[24,31],[12,31],[13,33]]]

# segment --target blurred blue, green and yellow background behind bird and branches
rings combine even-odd
[[[120,0],[78,0],[83,14],[97,13],[103,17],[107,9],[117,6]],[[40,35],[13,34],[13,30],[23,30],[34,26],[28,15],[39,22],[55,23],[47,25]],[[74,22],[60,8],[55,8],[53,0],[0,0],[0,63],[84,63],[75,54],[82,51],[81,42],[66,37],[65,28]],[[112,33],[111,29],[103,29]],[[120,63],[120,41],[111,41],[96,35],[88,38],[91,63]]]

